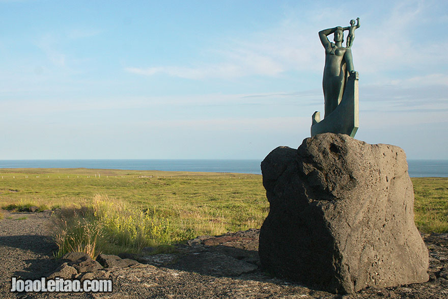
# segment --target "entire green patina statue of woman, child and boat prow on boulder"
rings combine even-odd
[[[319,38],[325,48],[325,67],[322,87],[325,99],[325,116],[313,114],[311,135],[332,132],[344,133],[354,137],[358,129],[358,73],[353,67],[351,46],[354,31],[359,28],[359,18],[351,20],[351,26],[335,27],[319,32]],[[343,47],[344,31],[349,31],[347,47]],[[334,43],[328,40],[333,34]]]

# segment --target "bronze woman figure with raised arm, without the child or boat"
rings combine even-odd
[[[328,35],[334,34],[334,43]],[[350,48],[342,46],[344,29],[340,26],[319,32],[319,38],[325,48],[325,67],[322,87],[325,98],[325,116],[327,117],[341,102],[344,94],[347,74],[355,74]]]

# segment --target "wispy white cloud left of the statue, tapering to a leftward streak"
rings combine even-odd
[[[239,78],[245,76],[278,76],[290,70],[320,72],[316,65],[322,53],[310,50],[307,40],[316,39],[315,32],[306,31],[302,23],[282,21],[275,28],[243,38],[220,37],[201,51],[204,61],[188,62],[191,66],[125,67],[125,71],[152,76],[164,73],[188,79]],[[307,49],[307,50],[305,50]],[[320,48],[321,49],[321,48]]]

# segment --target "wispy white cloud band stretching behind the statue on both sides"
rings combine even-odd
[[[379,24],[375,27],[361,24],[353,46],[355,68],[363,74],[372,74],[376,80],[391,80],[397,70],[411,70],[427,75],[431,68],[439,72],[446,66],[444,52],[448,42],[442,39],[416,42],[415,31],[428,22],[428,6],[421,1],[402,1],[390,5],[388,13],[379,20],[366,13],[367,22]],[[341,13],[344,13],[341,10]],[[251,75],[278,76],[288,71],[302,74],[322,72],[323,49],[316,31],[322,24],[337,14],[332,9],[317,9],[304,15],[286,14],[286,18],[271,29],[250,36],[220,37],[202,52],[204,60],[215,57],[215,62],[203,64],[187,62],[190,66],[126,67],[125,71],[153,76],[167,74],[173,77],[201,80],[204,78],[239,78]],[[375,16],[377,17],[377,16]],[[443,20],[439,20],[439,23]],[[321,24],[318,26],[318,24]],[[318,62],[318,63],[316,63]],[[193,65],[193,66],[191,66]],[[389,74],[390,72],[390,74]],[[406,75],[404,75],[406,77]],[[443,74],[432,77],[445,84]],[[416,80],[424,84],[424,80]]]

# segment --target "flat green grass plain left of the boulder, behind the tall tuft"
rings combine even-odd
[[[98,178],[98,174],[100,177]],[[97,177],[95,178],[95,175]],[[88,169],[0,170],[0,206],[32,203],[50,208],[88,205],[97,195],[162,215],[226,218],[227,230],[258,221],[268,202],[260,175]],[[152,176],[152,177],[151,177]],[[27,177],[27,178],[26,178]],[[235,213],[238,211],[238,213]],[[242,222],[246,222],[243,224]]]

